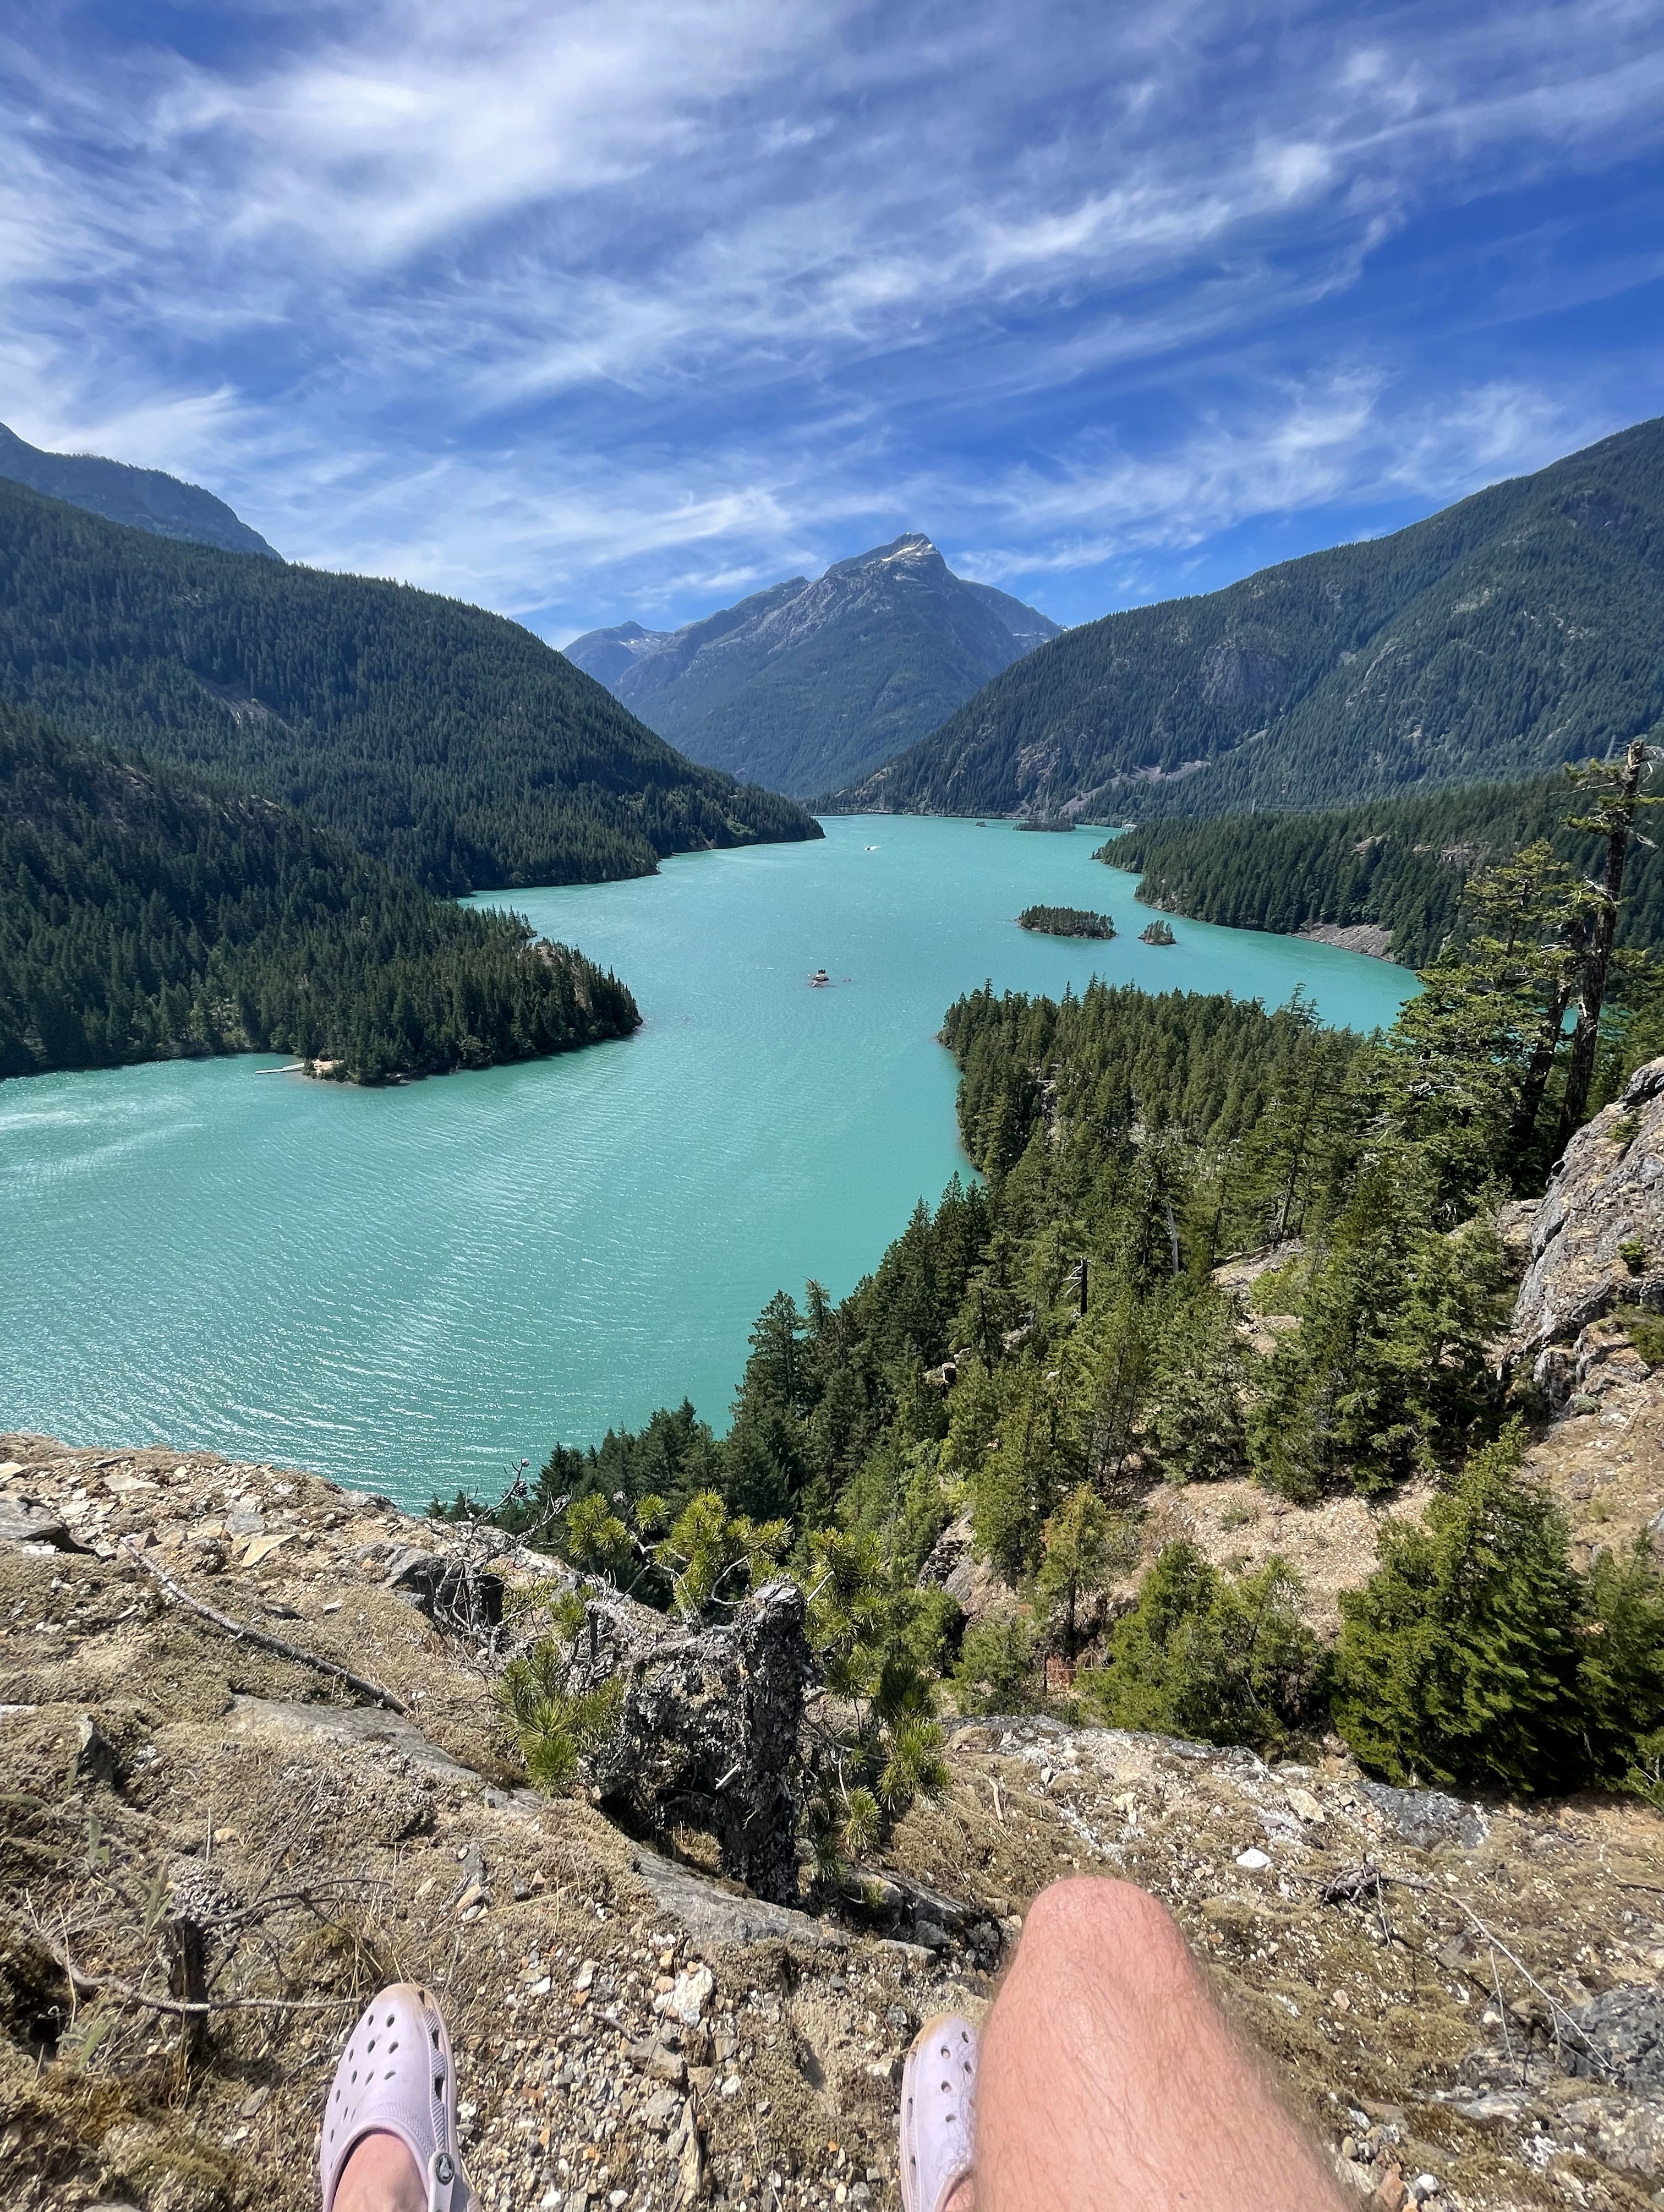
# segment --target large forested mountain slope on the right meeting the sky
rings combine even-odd
[[[1664,422],[1392,538],[1084,624],[845,807],[1317,807],[1604,754],[1664,712]]]

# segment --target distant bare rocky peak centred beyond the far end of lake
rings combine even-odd
[[[566,659],[695,761],[812,799],[865,776],[1058,635],[909,533],[682,630],[589,630]]]

